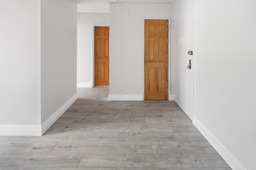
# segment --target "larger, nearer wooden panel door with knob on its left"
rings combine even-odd
[[[169,20],[145,20],[145,100],[168,100]]]

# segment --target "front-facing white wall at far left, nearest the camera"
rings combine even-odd
[[[0,131],[40,127],[40,0],[1,0],[0,23]]]

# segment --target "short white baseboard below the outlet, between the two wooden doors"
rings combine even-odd
[[[142,94],[109,94],[108,101],[142,101]]]

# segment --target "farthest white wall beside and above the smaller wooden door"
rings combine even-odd
[[[77,14],[77,87],[93,86],[93,25],[109,26],[109,14]]]

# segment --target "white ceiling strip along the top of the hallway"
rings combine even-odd
[[[78,13],[109,13],[110,2],[130,3],[170,3],[175,0],[74,0],[77,3]]]

